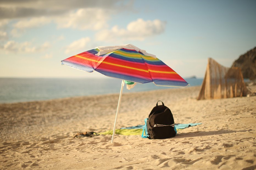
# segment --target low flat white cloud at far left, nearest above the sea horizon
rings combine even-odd
[[[42,52],[50,47],[48,42],[43,43],[40,46],[33,46],[32,42],[25,41],[23,43],[18,43],[16,41],[7,41],[4,44],[3,49],[5,52],[24,52],[24,53],[34,53]]]

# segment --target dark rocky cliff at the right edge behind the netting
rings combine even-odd
[[[241,55],[232,67],[240,67],[244,78],[256,79],[256,47]]]

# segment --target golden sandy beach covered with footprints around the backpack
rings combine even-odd
[[[144,124],[158,100],[175,123],[202,123],[162,140],[73,138],[111,130],[119,94],[0,104],[0,169],[256,169],[256,96],[198,101],[199,89],[123,94],[117,128]]]

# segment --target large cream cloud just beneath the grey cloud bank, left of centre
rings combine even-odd
[[[107,27],[110,10],[101,8],[81,8],[54,20],[58,28],[73,28],[80,30],[99,30]]]

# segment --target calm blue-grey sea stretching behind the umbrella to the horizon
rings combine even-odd
[[[185,79],[190,86],[200,86],[202,78]],[[122,80],[114,78],[0,78],[0,103],[41,101],[57,98],[120,93]],[[136,84],[123,93],[179,87]]]

